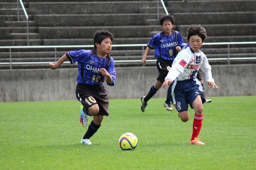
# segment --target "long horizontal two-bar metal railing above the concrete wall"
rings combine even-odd
[[[184,43],[185,44],[185,43]],[[233,57],[230,58],[230,45],[236,45],[236,44],[256,44],[256,41],[251,42],[222,42],[222,43],[203,43],[203,45],[228,45],[228,57],[227,58],[210,58],[209,61],[213,60],[228,60],[228,64],[230,64],[230,60],[250,60],[250,59],[256,59],[256,57]],[[146,47],[147,44],[119,44],[119,45],[112,45],[112,47],[142,47],[142,56],[144,54],[144,47]],[[56,62],[56,49],[57,48],[93,48],[94,45],[38,45],[38,46],[2,46],[0,49],[9,49],[10,53],[10,62],[2,62],[0,65],[10,65],[10,69],[12,69],[12,64],[48,64],[50,62],[12,62],[12,55],[11,55],[11,49],[36,49],[36,48],[54,48],[54,55],[55,55],[55,62]],[[141,62],[141,60],[115,60],[115,63],[137,63]],[[147,62],[156,62],[156,59],[150,59],[147,60]],[[64,62],[69,63],[69,62]]]

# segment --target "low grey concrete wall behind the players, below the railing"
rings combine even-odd
[[[158,75],[156,67],[116,68],[115,86],[106,86],[110,98],[140,98],[146,95]],[[206,96],[256,95],[256,64],[213,65],[212,74],[219,90],[209,89]],[[76,100],[76,68],[57,70],[1,70],[0,102]],[[165,98],[160,89],[155,98]]]

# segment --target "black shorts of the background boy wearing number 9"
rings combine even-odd
[[[172,66],[172,62],[173,60],[164,60],[160,58],[156,60],[156,67],[159,72],[158,78],[156,80],[164,82],[164,79]]]

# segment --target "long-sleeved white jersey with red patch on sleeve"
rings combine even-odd
[[[186,48],[180,51],[174,59],[165,80],[193,80],[196,78],[199,68],[206,74],[206,81],[214,82],[206,55],[202,51],[196,53],[192,49]]]

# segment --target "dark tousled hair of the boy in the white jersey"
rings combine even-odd
[[[200,24],[199,25],[190,25],[190,27],[188,27],[187,29],[187,39],[189,42],[189,39],[191,36],[193,35],[198,35],[199,37],[202,38],[202,42],[204,42],[204,40],[207,37],[207,33],[206,33],[206,29],[204,27],[202,27]]]

